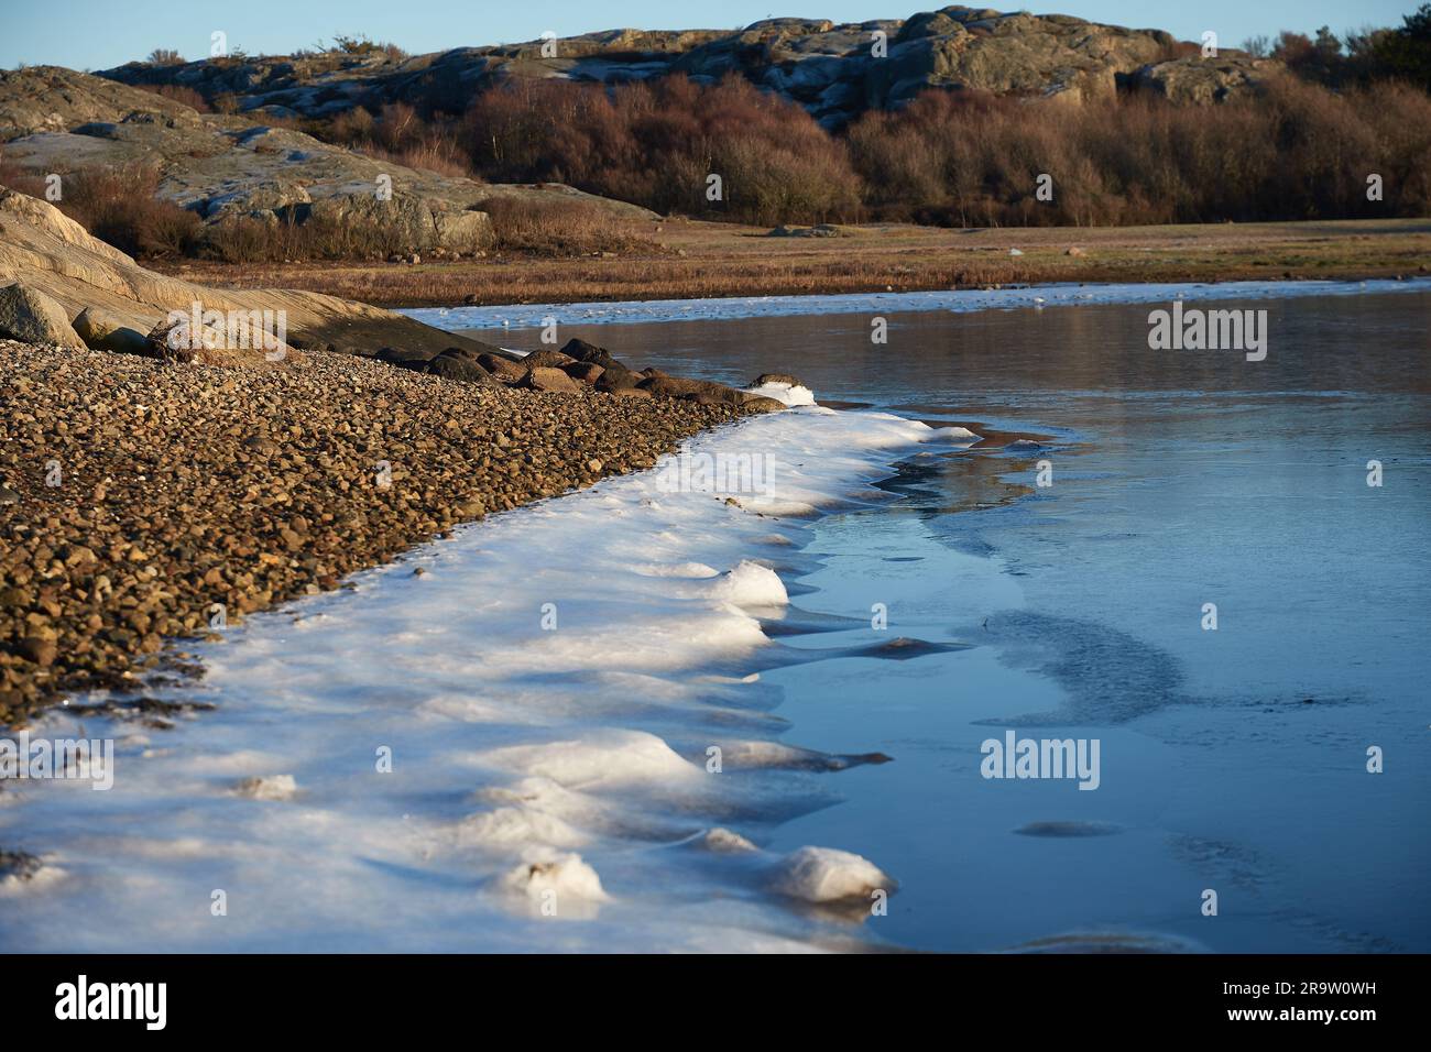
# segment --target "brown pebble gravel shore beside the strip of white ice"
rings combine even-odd
[[[0,726],[456,522],[647,468],[746,409],[348,355],[175,366],[0,341]]]

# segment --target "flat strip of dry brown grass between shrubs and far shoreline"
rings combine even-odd
[[[1362,279],[1424,275],[1431,222],[1219,223],[1069,230],[881,225],[830,239],[667,222],[663,245],[615,259],[489,258],[461,263],[245,266],[162,263],[190,281],[282,286],[381,306],[912,292],[1042,282]],[[1072,246],[1085,255],[1068,255]],[[1025,255],[1010,256],[1019,248]]]

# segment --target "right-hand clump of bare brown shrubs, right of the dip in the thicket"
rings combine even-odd
[[[1358,219],[1431,206],[1431,99],[1390,83],[1337,94],[1284,77],[1256,96],[1183,107],[929,93],[866,115],[849,146],[874,215],[950,226]],[[1052,176],[1050,202],[1036,198],[1040,173]],[[1382,202],[1367,199],[1372,173]]]

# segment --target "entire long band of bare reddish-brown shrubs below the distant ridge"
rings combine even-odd
[[[1126,225],[1431,213],[1431,97],[1281,77],[1215,106],[927,92],[840,135],[738,77],[518,82],[461,117],[358,109],[305,130],[489,182],[560,182],[750,223]],[[720,199],[710,199],[711,175]],[[1052,193],[1037,195],[1039,176]],[[1378,195],[1368,179],[1379,176]],[[1052,199],[1047,199],[1052,198]]]

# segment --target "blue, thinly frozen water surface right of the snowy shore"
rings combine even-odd
[[[873,638],[884,604],[889,635],[975,648],[766,674],[800,744],[894,759],[841,774],[843,803],[773,842],[900,877],[871,922],[886,937],[1431,949],[1431,295],[1216,306],[1269,311],[1266,361],[1149,351],[1149,308],[1130,305],[883,303],[884,346],[874,311],[562,328],[990,435],[906,459],[884,484],[897,502],[821,520],[823,565],[798,580],[816,591],[793,601],[859,627],[784,638]],[[1046,448],[1000,449],[1000,431]],[[1006,729],[1099,739],[1099,789],[980,777],[980,743]]]

